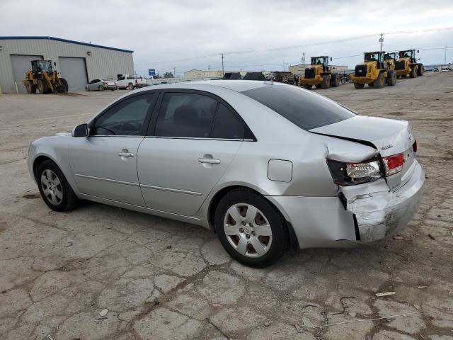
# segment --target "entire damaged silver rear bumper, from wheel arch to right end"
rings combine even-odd
[[[410,179],[389,190],[384,179],[340,187],[338,197],[266,196],[294,229],[301,249],[376,242],[405,227],[415,215],[425,171],[414,162]]]

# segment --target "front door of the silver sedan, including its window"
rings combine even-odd
[[[88,137],[74,138],[69,161],[81,193],[144,206],[137,151],[158,91],[127,96],[90,123]]]

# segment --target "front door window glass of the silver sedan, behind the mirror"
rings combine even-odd
[[[125,99],[96,119],[91,135],[143,135],[144,119],[153,110],[156,99],[156,92]]]

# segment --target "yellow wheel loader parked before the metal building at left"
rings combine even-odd
[[[56,65],[55,62],[53,64]],[[40,94],[65,94],[68,91],[68,82],[58,77],[51,60],[32,60],[31,69],[22,83],[29,94],[35,94],[37,89]]]

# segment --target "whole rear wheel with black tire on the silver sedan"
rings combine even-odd
[[[263,196],[246,188],[220,200],[214,225],[224,249],[245,266],[270,266],[289,248],[285,218]]]

